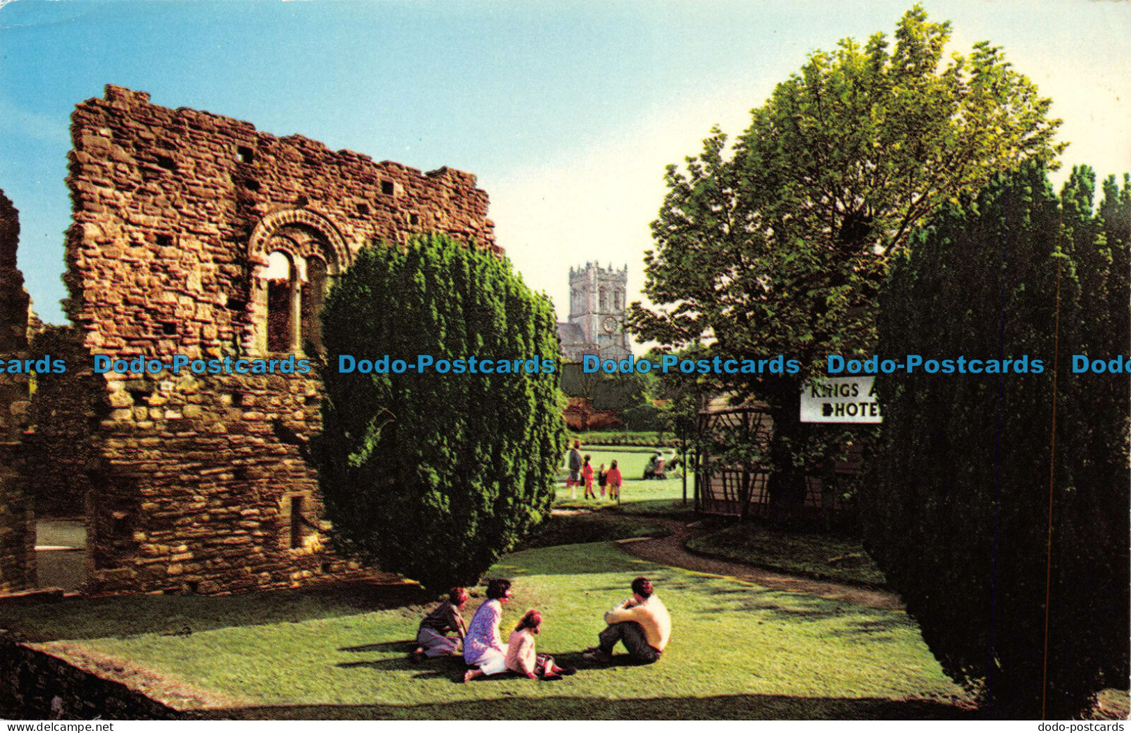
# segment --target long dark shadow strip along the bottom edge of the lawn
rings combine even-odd
[[[568,681],[553,684],[568,684]],[[542,684],[542,682],[532,682]],[[984,715],[984,714],[983,714]],[[473,700],[429,705],[286,705],[219,708],[193,715],[206,719],[974,719],[976,710],[936,700],[813,698],[787,695],[610,700],[587,697]]]

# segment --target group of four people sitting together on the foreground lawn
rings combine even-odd
[[[465,682],[507,671],[532,680],[560,680],[576,673],[577,669],[559,666],[552,656],[536,652],[534,637],[542,630],[542,614],[537,610],[527,611],[507,643],[502,643],[499,634],[502,607],[512,595],[510,581],[489,582],[487,600],[475,611],[470,626],[465,627],[463,610],[468,594],[464,588],[451,588],[448,600],[421,621],[413,660],[455,655],[463,644],[464,662],[468,665]],[[649,664],[659,660],[672,635],[667,609],[645,577],[632,581],[632,597],[605,613],[605,623],[597,635],[597,646],[581,655],[587,662],[610,662],[620,642],[632,661]]]

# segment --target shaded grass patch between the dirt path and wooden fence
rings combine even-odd
[[[887,582],[860,540],[835,534],[794,533],[748,522],[694,538],[688,549],[831,581]]]

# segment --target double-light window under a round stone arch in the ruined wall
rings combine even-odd
[[[256,263],[252,283],[252,347],[256,351],[300,351],[322,346],[318,315],[349,252],[334,226],[305,209],[264,217],[251,235]]]

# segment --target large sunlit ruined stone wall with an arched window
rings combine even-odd
[[[297,347],[268,350],[270,252],[321,263],[328,283],[360,247],[414,233],[494,247],[487,195],[466,173],[421,174],[148,98],[107,86],[72,115],[63,305],[86,358],[60,382],[95,385],[87,590],[242,592],[357,574],[316,531],[317,381],[93,375],[92,359],[284,358]],[[292,303],[312,311],[320,296],[296,272]]]

